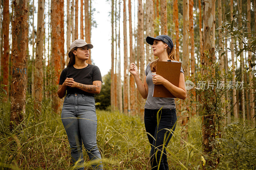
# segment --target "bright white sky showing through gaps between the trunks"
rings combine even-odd
[[[51,0],[50,0],[51,1]],[[71,2],[72,0],[70,0]],[[134,26],[137,25],[137,0],[132,1],[132,29],[134,31]],[[118,2],[118,1],[117,1]],[[124,75],[124,43],[123,43],[123,1],[121,1],[121,13],[120,13],[120,58],[121,58],[121,76]],[[45,2],[45,34],[46,38],[48,35],[48,26],[50,25],[48,22],[48,12],[49,12],[49,0]],[[65,53],[67,52],[67,2],[64,1],[64,29],[65,29]],[[79,12],[78,12],[78,28],[80,28],[80,0],[78,0]],[[93,13],[93,18],[96,21],[97,27],[92,27],[91,30],[91,43],[93,44],[93,48],[91,49],[91,57],[93,63],[100,68],[101,75],[104,76],[111,69],[111,1],[110,0],[92,0],[92,9],[95,8]],[[117,6],[118,8],[118,6]],[[10,8],[11,11],[11,8]],[[34,17],[34,27],[36,29],[37,23],[37,3],[35,3],[35,17]],[[130,54],[129,51],[129,21],[128,21],[128,1],[126,1],[126,17],[127,17],[127,49],[128,49],[128,57]],[[83,12],[84,13],[84,12]],[[10,25],[11,26],[11,25]],[[117,23],[118,27],[118,23]],[[115,29],[115,28],[114,28]],[[117,28],[118,29],[118,28]],[[30,34],[31,34],[32,26],[30,26]],[[11,34],[10,34],[11,37]],[[78,37],[80,38],[80,29],[78,30]],[[114,50],[115,50],[114,44]],[[133,38],[133,46],[134,46],[134,38]],[[48,50],[47,44],[45,46],[46,51]],[[32,46],[29,46],[29,53],[32,55]],[[115,54],[115,52],[114,52]],[[119,57],[119,52],[117,51],[117,58]],[[228,54],[228,58],[231,58],[230,54]],[[133,61],[131,61],[133,62]]]

